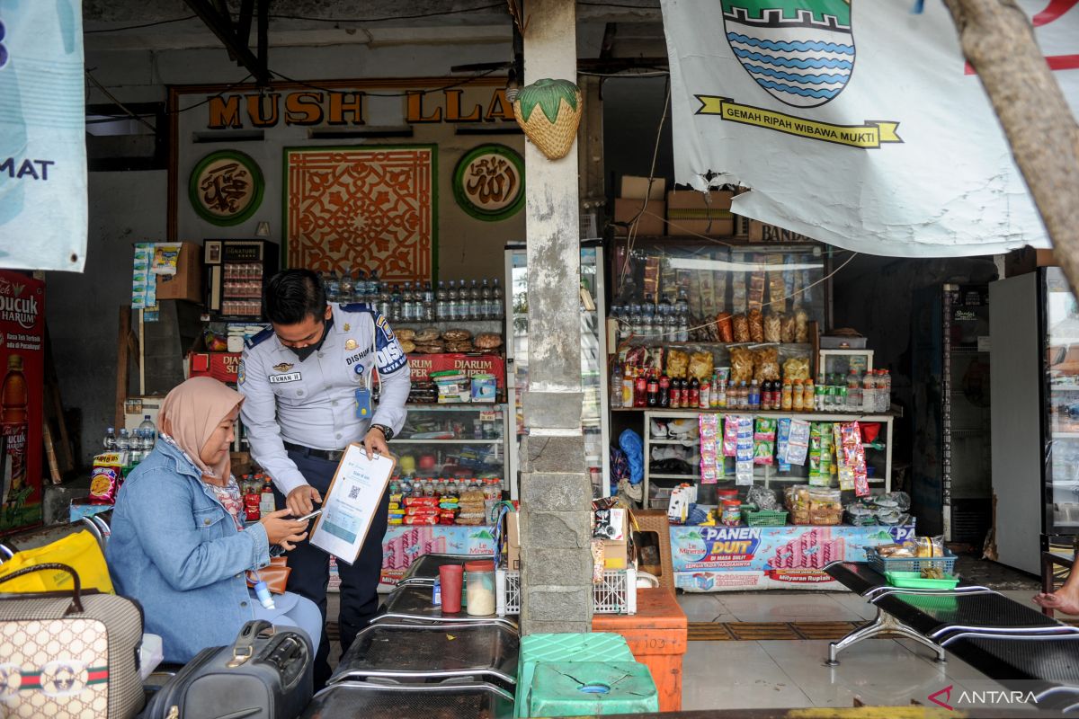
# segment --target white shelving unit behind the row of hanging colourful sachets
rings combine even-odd
[[[704,411],[657,410],[644,413],[644,498],[648,509],[666,509],[671,488],[682,483],[697,484],[697,501],[701,504],[716,503],[716,489],[734,488],[734,458],[725,457],[724,476],[715,484],[700,484],[700,433],[699,417]],[[790,412],[710,412],[720,417],[722,434],[723,417],[741,415],[769,417],[780,419],[791,417],[809,423],[847,423],[877,424],[878,431],[872,442],[864,442],[865,464],[870,472],[869,483],[875,490],[891,492],[891,452],[892,452],[892,416],[831,414],[831,413],[797,413]],[[672,425],[675,431],[672,431]],[[756,465],[753,471],[753,484],[782,489],[787,484],[806,484],[809,481],[808,468],[792,466],[790,471],[780,472],[777,465]],[[834,484],[833,479],[833,484]],[[747,487],[748,488],[748,487]],[[848,494],[848,493],[844,493]],[[853,497],[844,497],[848,500]]]

